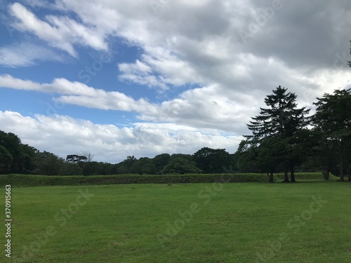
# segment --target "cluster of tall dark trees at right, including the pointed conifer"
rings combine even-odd
[[[296,170],[324,172],[350,177],[351,89],[334,90],[317,97],[315,114],[298,108],[296,94],[281,86],[267,95],[258,116],[247,125],[252,135],[237,150],[239,170],[284,173],[284,182],[296,182]],[[290,180],[289,180],[290,173]]]

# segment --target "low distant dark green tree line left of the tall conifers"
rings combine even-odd
[[[234,154],[204,147],[194,154],[158,154],[154,158],[127,156],[119,163],[93,161],[90,153],[68,154],[65,159],[22,144],[13,133],[0,130],[0,174],[115,175],[166,173],[223,173]]]

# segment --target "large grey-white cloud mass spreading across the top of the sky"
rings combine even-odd
[[[329,15],[324,4],[343,19]],[[241,90],[251,86],[267,93],[277,80],[289,88],[286,83],[293,76],[282,75],[289,70],[307,78],[313,78],[321,69],[332,70],[336,55],[342,54],[348,44],[341,32],[351,26],[347,18],[351,4],[346,1],[323,1],[317,6],[282,3],[282,8],[259,26],[258,33],[243,43],[239,30],[249,30],[258,15],[272,8],[272,1],[161,1],[157,6],[155,13],[149,1],[56,2],[59,11],[74,12],[81,22],[57,13],[47,15],[46,21],[39,20],[18,3],[11,10],[20,19],[15,24],[18,29],[29,30],[51,45],[60,45],[71,55],[77,55],[74,45],[106,49],[106,39],[115,36],[138,46],[142,50],[140,58],[134,63],[121,62],[119,79],[161,90],[201,83]],[[301,11],[306,14],[303,18]],[[314,19],[306,21],[310,16]],[[323,25],[329,30],[321,30]],[[296,32],[300,35],[293,37]],[[305,46],[296,42],[298,39],[303,39]],[[309,39],[308,45],[305,39]]]

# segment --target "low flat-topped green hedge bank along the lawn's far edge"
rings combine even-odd
[[[283,174],[274,175],[279,182]],[[331,180],[337,179],[331,175]],[[296,180],[321,180],[322,173],[296,173]],[[0,186],[38,187],[52,185],[92,184],[176,184],[211,182],[267,182],[267,175],[255,173],[214,175],[94,175],[94,176],[48,176],[48,175],[0,175]]]

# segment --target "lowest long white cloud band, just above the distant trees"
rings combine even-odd
[[[193,154],[201,147],[226,148],[233,152],[241,137],[208,130],[162,123],[135,123],[118,128],[69,116],[22,116],[0,111],[0,127],[18,135],[22,143],[65,158],[67,154],[90,151],[95,161],[117,163],[128,155],[154,157],[161,153]],[[25,127],[25,129],[23,128]]]

